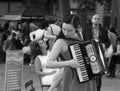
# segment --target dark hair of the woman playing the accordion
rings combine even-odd
[[[73,14],[68,14],[63,18],[63,23],[66,24],[72,24],[74,28],[78,28],[78,26],[80,25],[80,19],[77,15],[73,15]],[[62,29],[62,28],[61,28]],[[63,32],[61,31],[57,37],[58,38],[65,38]]]

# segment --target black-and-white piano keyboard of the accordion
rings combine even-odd
[[[83,55],[81,53],[81,49],[80,49],[79,44],[74,44],[74,45],[70,46],[70,50],[71,50],[73,58],[77,59],[77,61],[79,61],[79,63],[80,63],[80,68],[76,69],[79,81],[80,82],[88,81],[89,76],[88,76],[88,73],[86,70],[84,58],[83,58]]]

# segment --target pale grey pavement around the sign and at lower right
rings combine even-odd
[[[35,67],[29,65],[23,65],[23,76],[22,76],[22,91],[25,91],[24,84],[33,80],[35,91],[41,91],[39,78],[35,73]],[[0,64],[0,91],[4,91],[5,82],[5,64]],[[107,78],[105,75],[102,79],[101,91],[120,91],[120,74],[115,78]]]

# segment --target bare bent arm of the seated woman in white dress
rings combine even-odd
[[[41,66],[39,57],[36,57],[35,59],[35,70],[36,70],[36,73],[39,74],[40,76],[52,75],[56,72],[56,71],[42,72],[42,66]]]

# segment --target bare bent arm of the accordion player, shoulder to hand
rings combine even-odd
[[[47,57],[46,67],[48,68],[61,68],[66,66],[71,66],[73,68],[80,67],[79,62],[76,61],[76,59],[60,61],[60,62],[55,61],[60,53],[65,52],[67,50],[68,50],[67,44],[62,39],[58,39],[55,42],[52,51]]]

